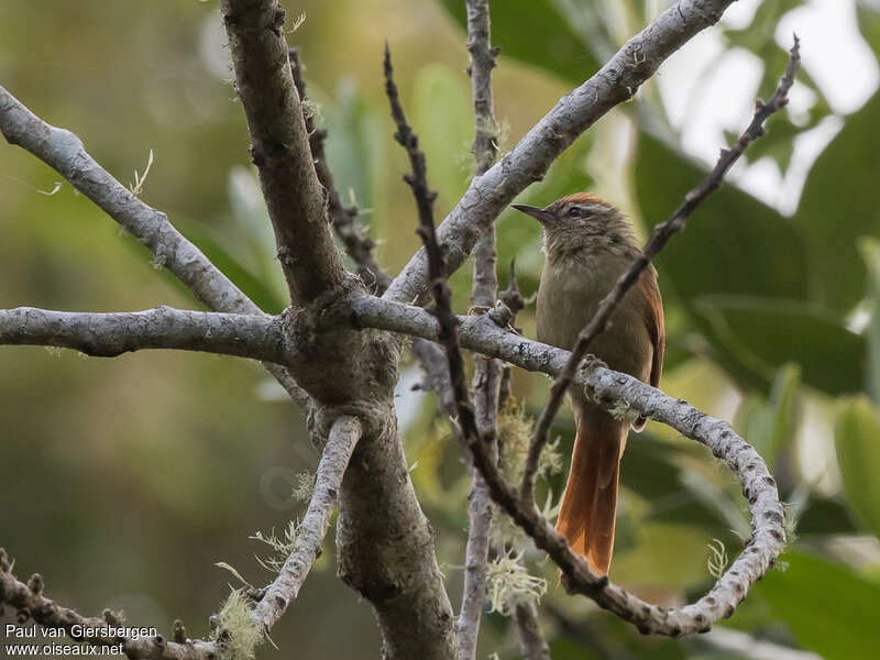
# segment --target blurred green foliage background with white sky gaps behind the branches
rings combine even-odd
[[[664,7],[659,1],[503,0],[493,4],[499,146],[509,148],[597,63]],[[378,241],[391,273],[417,246],[416,213],[400,180],[381,78],[391,42],[397,84],[440,193],[438,218],[468,185],[473,133],[468,55],[458,0],[285,2],[308,92],[345,199]],[[662,221],[746,125],[784,68],[791,31],[804,70],[790,108],[661,255],[669,332],[661,387],[729,419],[777,475],[791,543],[724,626],[825,658],[873,657],[869,623],[880,603],[880,156],[876,96],[880,7],[870,0],[743,0],[725,21],[664,65],[634,102],[581,138],[521,201],[543,205],[592,189],[639,231]],[[285,306],[272,232],[248,158],[217,2],[7,0],[0,3],[0,84],[51,123],[76,132],[124,183],[155,162],[142,197],[167,211],[266,310]],[[113,311],[195,307],[161,264],[59,176],[0,145],[0,307]],[[517,257],[520,287],[537,288],[538,227],[515,213],[498,224],[499,273]],[[470,278],[453,278],[468,308]],[[519,324],[534,337],[534,307]],[[301,514],[289,496],[314,469],[295,406],[258,365],[199,354],[145,352],[82,359],[42,348],[0,350],[3,419],[0,544],[25,578],[80,612],[124,609],[162,632],[180,617],[191,636],[237,580],[271,580],[249,540]],[[407,460],[458,608],[469,480],[433,398],[411,386],[399,416]],[[530,413],[547,380],[515,374]],[[570,414],[557,422],[562,451]],[[729,473],[669,429],[632,436],[612,575],[674,605],[713,582],[710,543],[734,557],[748,535]],[[563,475],[547,485],[558,494]],[[332,538],[328,540],[332,544]],[[332,549],[331,549],[332,550]],[[541,623],[557,660],[740,658],[712,636],[641,638],[556,571]],[[261,657],[373,658],[369,605],[334,576],[328,551],[273,630]],[[484,618],[480,657],[518,657],[508,619]]]

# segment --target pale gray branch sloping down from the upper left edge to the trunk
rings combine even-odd
[[[0,86],[0,132],[10,144],[29,151],[55,169],[153,253],[201,302],[217,311],[263,311],[201,251],[178,232],[162,211],[147,206],[103,169],[70,131],[47,124]],[[289,372],[264,365],[304,411],[309,395]]]

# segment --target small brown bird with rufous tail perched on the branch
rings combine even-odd
[[[546,256],[538,286],[538,341],[571,350],[617,278],[641,255],[632,227],[617,208],[576,193],[538,208],[513,205],[541,223]],[[650,264],[588,346],[614,371],[657,386],[663,369],[666,329],[657,271]],[[576,433],[557,531],[590,569],[607,575],[614,551],[620,459],[629,427],[646,419],[613,415],[571,388]]]

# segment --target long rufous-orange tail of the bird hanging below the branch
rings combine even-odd
[[[593,572],[607,575],[614,551],[620,457],[629,424],[590,406],[575,406],[574,418],[578,435],[557,531],[586,558]]]

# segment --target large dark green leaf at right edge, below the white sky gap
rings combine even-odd
[[[796,213],[810,254],[811,298],[849,311],[865,294],[866,266],[856,240],[880,238],[877,173],[880,95],[875,95],[820,155]]]

